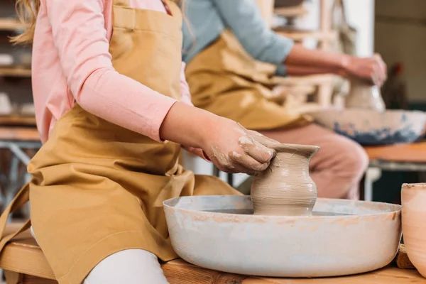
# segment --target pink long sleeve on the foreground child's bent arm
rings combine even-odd
[[[46,1],[62,72],[77,104],[157,141],[175,99],[114,70],[101,0]]]

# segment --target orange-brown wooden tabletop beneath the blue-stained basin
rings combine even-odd
[[[426,163],[426,142],[365,147],[370,160]]]

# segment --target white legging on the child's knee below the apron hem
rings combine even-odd
[[[34,235],[33,227],[31,234]],[[35,240],[37,241],[37,240]],[[98,263],[82,284],[168,284],[155,254],[126,249]]]

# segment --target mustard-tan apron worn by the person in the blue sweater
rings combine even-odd
[[[275,70],[275,65],[253,60],[226,30],[188,62],[185,75],[195,107],[238,121],[247,129],[310,123],[309,116],[287,114],[284,107],[268,100]]]

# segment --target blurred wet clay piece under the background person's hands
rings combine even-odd
[[[373,109],[378,112],[386,110],[380,89],[358,79],[351,79],[351,90],[346,98],[346,108]]]

